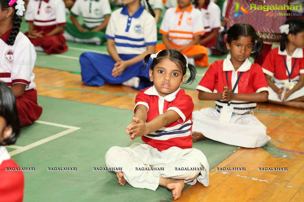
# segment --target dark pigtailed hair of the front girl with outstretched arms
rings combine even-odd
[[[151,54],[146,55],[146,57],[143,58],[143,69],[146,69],[146,66],[148,65],[149,59]],[[174,50],[174,49],[165,49],[160,52],[158,52],[157,57],[153,59],[150,69],[153,70],[154,67],[160,63],[162,60],[169,58],[172,62],[174,62],[182,71],[183,75],[186,75],[187,72],[187,60],[183,54],[180,52]],[[188,68],[190,70],[190,77],[187,81],[184,82],[184,84],[192,83],[195,80],[196,75],[196,69],[193,65],[188,63]]]

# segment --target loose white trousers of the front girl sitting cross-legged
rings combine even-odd
[[[111,147],[105,154],[109,168],[122,168],[124,178],[133,187],[156,190],[160,177],[184,180],[195,184],[196,180],[209,185],[209,164],[198,149],[171,147],[158,151],[148,144],[134,143],[130,147]],[[160,171],[142,171],[137,168],[153,167]],[[203,168],[202,171],[188,171],[185,168]]]

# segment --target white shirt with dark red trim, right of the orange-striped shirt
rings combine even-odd
[[[205,32],[219,30],[221,28],[221,9],[213,2],[209,2],[207,8],[198,8],[204,16]]]

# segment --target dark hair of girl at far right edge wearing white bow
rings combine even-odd
[[[296,35],[299,32],[304,31],[304,20],[300,18],[290,18],[285,22],[284,25],[289,25],[289,33]],[[284,51],[286,48],[286,43],[288,42],[287,34],[284,32],[282,34],[281,43],[280,43],[280,50]]]

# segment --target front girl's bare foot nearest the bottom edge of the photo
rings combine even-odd
[[[177,200],[181,197],[181,192],[185,187],[184,180],[173,180],[171,178],[161,177],[159,185],[168,188],[172,192],[172,197]]]

